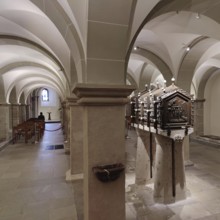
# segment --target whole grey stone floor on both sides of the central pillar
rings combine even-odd
[[[59,127],[47,124],[39,143],[20,141],[0,151],[0,220],[83,220],[82,183],[65,181],[69,156],[63,149],[47,150],[63,144],[61,130],[49,131]],[[154,202],[152,183],[134,185],[135,131],[128,137],[126,220],[220,220],[220,146],[191,142],[188,197],[164,205]]]

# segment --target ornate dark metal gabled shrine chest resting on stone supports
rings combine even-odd
[[[136,125],[167,130],[185,129],[192,126],[191,96],[175,86],[145,90],[131,98],[131,118]]]

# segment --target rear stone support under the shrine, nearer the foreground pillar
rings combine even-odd
[[[153,177],[153,161],[155,156],[154,134],[148,131],[136,129],[137,132],[137,154],[135,183],[145,185]],[[151,135],[151,138],[150,138]],[[152,140],[152,152],[150,150],[150,139]],[[152,157],[152,168],[150,158]]]

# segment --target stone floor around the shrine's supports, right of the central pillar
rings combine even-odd
[[[135,131],[128,136],[126,220],[220,220],[220,146],[190,143],[194,166],[186,167],[187,199],[164,205],[154,202],[152,183],[134,185]]]

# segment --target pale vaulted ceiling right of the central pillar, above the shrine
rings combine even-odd
[[[147,79],[147,77],[143,77],[143,74],[153,74],[138,69],[137,54],[139,54],[146,57],[146,64],[153,63],[158,70],[159,64],[165,63],[171,75],[177,79],[182,80],[184,78],[179,74],[190,75],[186,77],[188,81],[184,82],[185,84],[188,83],[189,87],[194,77],[193,86],[198,89],[207,69],[219,66],[220,63],[218,56],[220,51],[220,2],[217,0],[186,0],[185,4],[181,0],[170,2],[167,5],[165,1],[159,2],[159,4],[163,4],[163,7],[160,8],[158,4],[155,13],[152,12],[156,2],[154,5],[152,1],[145,2],[145,4],[152,6],[152,11],[151,14],[145,15],[145,23],[142,24],[142,29],[139,29],[135,41],[133,40],[131,44],[133,48],[136,47],[137,49],[131,50],[129,56],[129,74],[133,76],[136,82],[142,82],[144,78]],[[146,12],[146,9],[141,8],[139,4],[141,1],[138,3],[139,8],[136,7],[136,13],[139,12],[139,16],[135,17],[134,22],[137,23],[140,17],[143,18],[141,13]],[[141,25],[141,22],[139,24]],[[212,43],[210,40],[206,41],[207,38],[213,39]],[[190,51],[186,51],[188,46]],[[154,60],[151,54],[153,54]],[[190,60],[186,62],[187,59]],[[143,57],[141,60],[144,62]],[[131,72],[132,69],[136,71]],[[159,72],[164,75],[163,71],[159,70]],[[157,77],[152,77],[152,82],[155,80]]]

